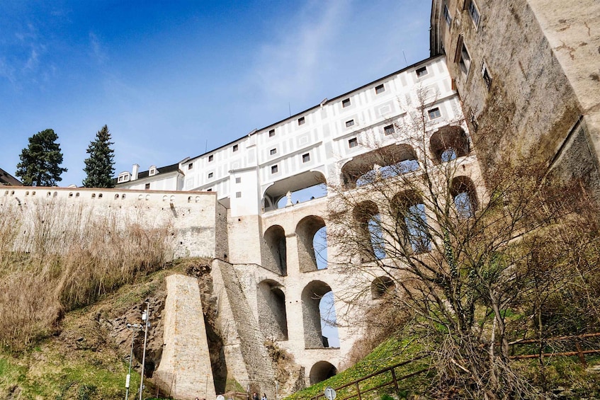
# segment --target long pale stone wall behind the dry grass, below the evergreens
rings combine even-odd
[[[226,230],[217,219],[225,219],[214,193],[156,192],[151,190],[115,190],[86,188],[27,188],[11,187],[0,191],[0,207],[11,207],[23,218],[23,229],[17,238],[18,246],[33,246],[35,229],[50,235],[57,242],[77,235],[86,224],[97,229],[123,229],[135,225],[142,229],[169,230],[169,258],[214,257],[217,237],[220,246]],[[69,236],[71,237],[71,236]],[[220,251],[223,251],[220,248]]]

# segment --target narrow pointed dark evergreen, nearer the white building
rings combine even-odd
[[[115,186],[113,182],[115,151],[111,149],[111,144],[114,144],[111,142],[111,133],[104,125],[96,133],[96,140],[90,142],[87,149],[89,158],[84,161],[87,178],[83,182],[86,188],[113,188]]]

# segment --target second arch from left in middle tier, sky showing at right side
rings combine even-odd
[[[296,238],[298,239],[298,265],[300,272],[310,272],[319,269],[319,258],[323,256],[322,248],[315,248],[315,240],[319,241],[317,232],[322,232],[325,221],[316,215],[309,215],[300,219],[296,225]],[[325,241],[325,254],[327,262],[327,241]],[[319,262],[317,262],[319,261]]]

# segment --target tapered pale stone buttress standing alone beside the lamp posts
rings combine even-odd
[[[166,278],[164,348],[155,382],[175,399],[214,399],[213,370],[196,278]]]

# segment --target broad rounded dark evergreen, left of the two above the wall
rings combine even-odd
[[[54,130],[47,129],[29,138],[29,146],[23,149],[17,164],[16,176],[27,186],[55,186],[62,181],[60,175],[67,172],[61,168],[62,152]]]

